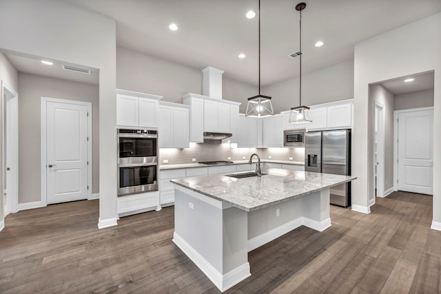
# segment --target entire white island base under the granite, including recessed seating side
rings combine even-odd
[[[174,185],[173,242],[220,291],[251,275],[248,251],[305,225],[331,225],[329,188],[268,207],[245,211]]]

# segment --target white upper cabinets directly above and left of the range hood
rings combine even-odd
[[[184,104],[190,105],[191,142],[203,142],[203,132],[237,136],[238,129],[234,124],[238,122],[240,103],[192,93],[182,98]]]

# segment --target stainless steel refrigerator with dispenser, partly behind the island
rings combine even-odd
[[[351,175],[351,131],[305,133],[305,171]],[[331,188],[331,204],[351,205],[351,182]]]

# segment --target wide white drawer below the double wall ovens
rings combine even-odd
[[[130,216],[151,210],[159,210],[159,191],[119,196],[117,200],[118,216]]]

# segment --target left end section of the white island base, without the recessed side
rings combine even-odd
[[[173,242],[225,291],[251,275],[247,212],[175,186]]]

